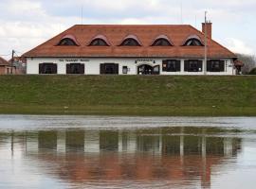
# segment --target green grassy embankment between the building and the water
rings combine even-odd
[[[255,116],[256,77],[1,76],[0,113]]]

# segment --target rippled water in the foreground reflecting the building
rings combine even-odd
[[[0,115],[0,188],[255,188],[255,117]]]

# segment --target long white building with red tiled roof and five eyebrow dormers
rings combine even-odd
[[[72,26],[24,54],[27,74],[236,75],[236,55],[211,39],[211,26]]]

